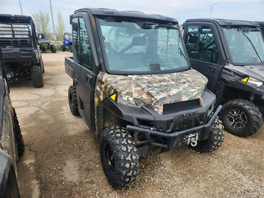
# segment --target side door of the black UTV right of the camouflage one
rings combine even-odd
[[[224,53],[216,27],[208,24],[185,23],[184,41],[192,68],[208,78],[207,88],[215,92],[224,66]]]

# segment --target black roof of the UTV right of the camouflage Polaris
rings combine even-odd
[[[229,20],[220,18],[195,18],[187,19],[185,22],[214,22],[220,26],[259,26],[258,23],[251,21],[241,21],[241,20]]]

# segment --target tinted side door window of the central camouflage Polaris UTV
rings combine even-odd
[[[72,19],[72,38],[77,62],[84,67],[92,69],[92,51],[85,22],[81,17]]]

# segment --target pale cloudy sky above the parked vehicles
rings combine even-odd
[[[216,2],[218,4],[213,8],[212,18],[264,21],[264,0],[51,0],[55,26],[57,25],[57,12],[61,11],[65,31],[71,30],[69,15],[84,7],[163,14],[183,23],[188,18],[209,17],[210,8],[207,5]],[[21,0],[21,5],[24,15],[31,15],[38,11],[50,13],[49,0]],[[0,13],[21,14],[19,0],[0,0]],[[52,31],[51,17],[50,31]]]

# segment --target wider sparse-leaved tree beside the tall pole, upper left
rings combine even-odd
[[[48,13],[43,13],[39,11],[39,13],[32,14],[36,31],[44,32],[45,34],[49,32],[49,21],[50,16]]]

